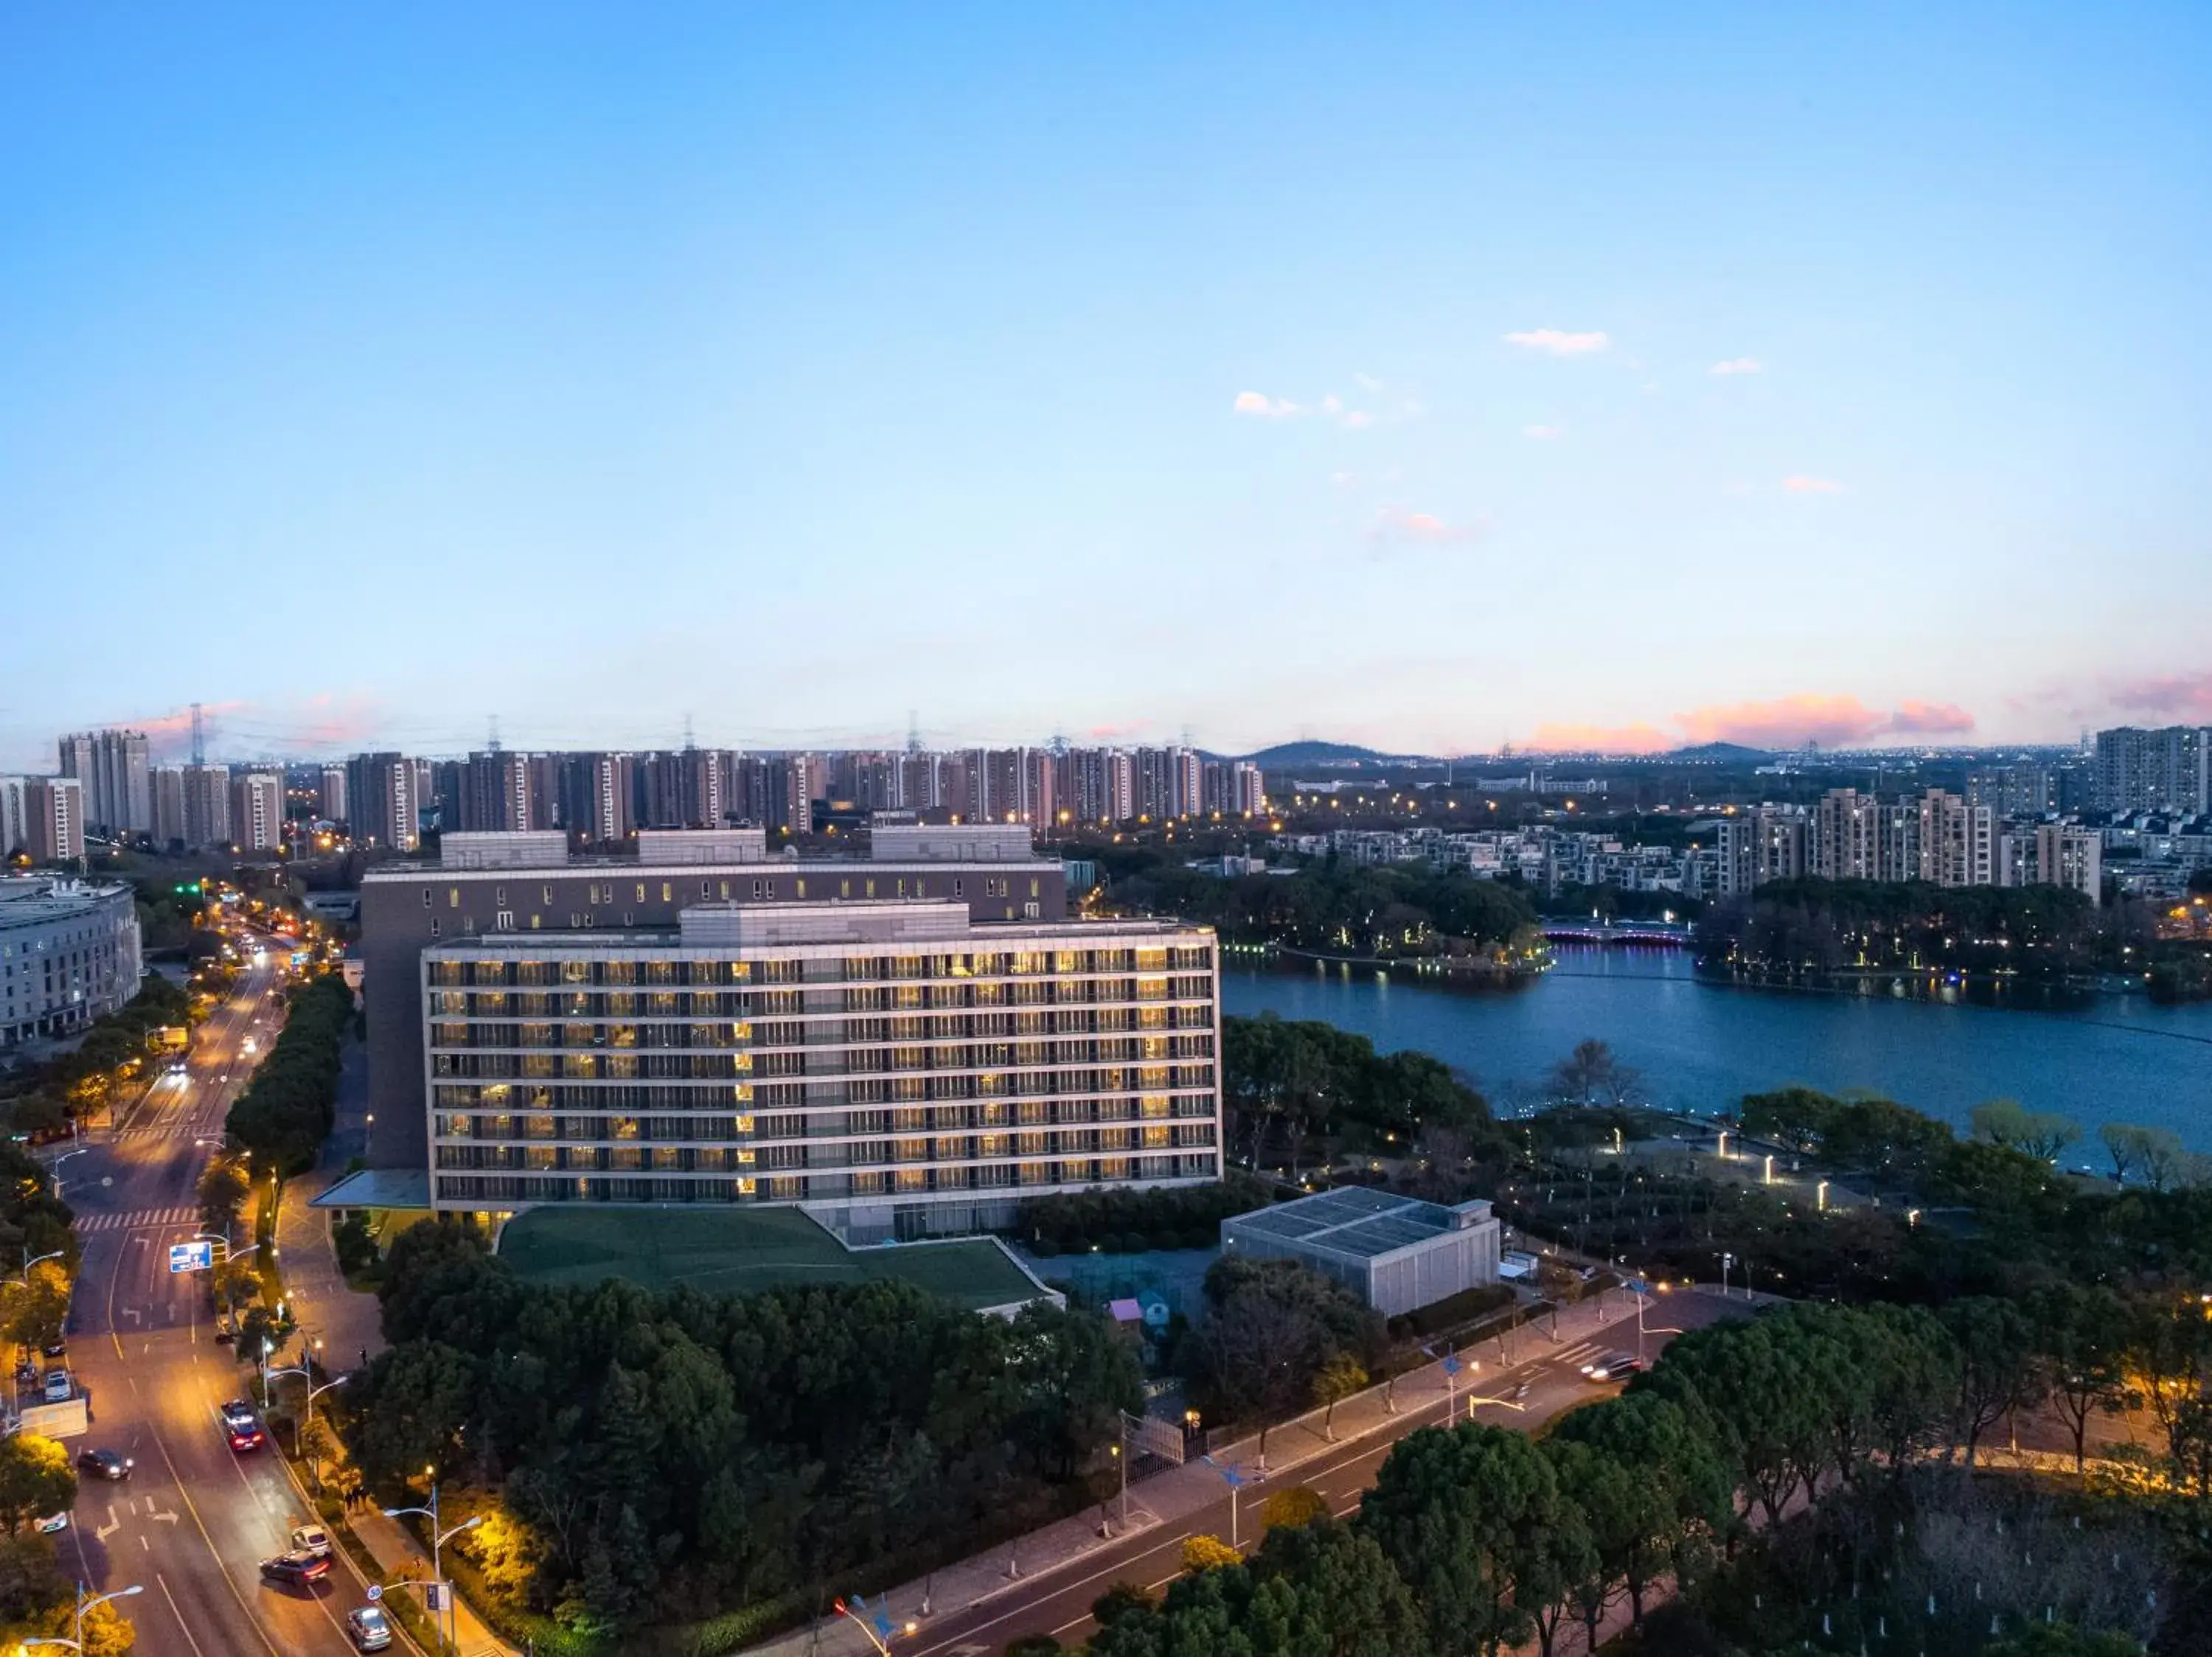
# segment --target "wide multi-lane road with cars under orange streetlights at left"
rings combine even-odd
[[[334,1657],[354,1648],[343,1617],[363,1597],[343,1557],[316,1593],[261,1582],[261,1560],[310,1513],[274,1447],[228,1447],[215,1411],[252,1394],[252,1372],[215,1341],[206,1279],[168,1270],[168,1246],[199,1230],[210,1142],[283,1018],[274,945],[248,958],[199,1026],[188,1075],[157,1080],[58,1166],[84,1243],[69,1363],[93,1403],[71,1449],[117,1449],[137,1467],[119,1484],[86,1478],[55,1542],[95,1593],[142,1588],[122,1608],[146,1657]]]

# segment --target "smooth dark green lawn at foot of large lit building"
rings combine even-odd
[[[531,1208],[507,1221],[500,1254],[535,1283],[622,1276],[653,1290],[750,1294],[896,1276],[967,1307],[1037,1292],[991,1241],[847,1250],[796,1208]]]

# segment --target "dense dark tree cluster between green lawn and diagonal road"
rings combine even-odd
[[[403,1232],[392,1347],[347,1436],[398,1493],[502,1489],[520,1608],[619,1635],[927,1569],[1082,1504],[1141,1409],[1106,1319],[911,1285],[653,1294],[518,1281],[482,1234]]]

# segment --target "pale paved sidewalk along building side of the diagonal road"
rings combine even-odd
[[[1621,1316],[1621,1299],[1615,1299],[1610,1307],[1599,1307],[1597,1301],[1564,1307],[1559,1312],[1557,1345],[1586,1341],[1601,1327],[1619,1323]],[[1632,1310],[1628,1312],[1628,1319],[1632,1332]],[[1511,1363],[1531,1363],[1551,1352],[1555,1343],[1548,1325],[1551,1319],[1546,1316],[1540,1323],[1528,1323],[1506,1336],[1513,1354]],[[1469,1394],[1482,1396],[1482,1378],[1506,1367],[1500,1358],[1500,1341],[1484,1341],[1480,1349],[1469,1347],[1462,1352],[1462,1369],[1451,1383],[1451,1392],[1458,1398],[1464,1400]],[[1248,1507],[1239,1540],[1250,1544],[1259,1535],[1259,1515],[1252,1509],[1256,1509],[1270,1491],[1296,1484],[1298,1467],[1332,1449],[1340,1449],[1356,1438],[1367,1438],[1389,1427],[1402,1427],[1407,1414],[1433,1407],[1444,1392],[1447,1385],[1442,1363],[1422,1365],[1420,1369],[1398,1376],[1396,1411],[1389,1407],[1389,1385],[1369,1387],[1367,1392],[1336,1405],[1334,1440],[1323,1434],[1325,1411],[1321,1409],[1312,1409],[1296,1420],[1287,1420],[1281,1427],[1270,1429],[1265,1473],[1261,1473],[1259,1436],[1254,1434],[1237,1445],[1217,1449],[1212,1462],[1190,1460],[1181,1467],[1170,1467],[1164,1473],[1155,1473],[1152,1478],[1130,1484],[1128,1526],[1124,1529],[1115,1522],[1113,1535],[1099,1535],[1099,1509],[1088,1507],[1073,1518],[1044,1526],[1042,1531],[1015,1538],[1011,1544],[1002,1544],[991,1553],[978,1553],[951,1564],[922,1582],[907,1582],[891,1588],[880,1595],[880,1599],[869,1595],[869,1606],[880,1604],[894,1624],[947,1617],[969,1611],[1002,1593],[1026,1588],[1035,1577],[1044,1577],[1062,1566],[1075,1564],[1077,1560],[1130,1535],[1159,1526],[1170,1526],[1172,1533],[1175,1524],[1221,1500],[1225,1489],[1225,1480],[1221,1476],[1223,1467],[1234,1469],[1241,1478],[1250,1478],[1254,1482],[1261,1476],[1267,1480],[1263,1487],[1252,1489],[1241,1498]],[[1108,1498],[1106,1507],[1108,1511],[1115,1509],[1113,1498]],[[1011,1569],[1018,1569],[1020,1575],[1009,1575]],[[748,1657],[816,1657],[816,1653],[821,1657],[869,1657],[876,1648],[860,1628],[843,1617],[836,1617],[825,1622],[821,1628],[801,1626],[765,1644],[748,1646],[745,1650]]]

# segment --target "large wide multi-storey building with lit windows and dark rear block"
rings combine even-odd
[[[799,1203],[880,1241],[1221,1177],[1214,934],[1066,920],[1024,827],[544,838],[363,883],[374,1159],[416,1124],[434,1208]]]

